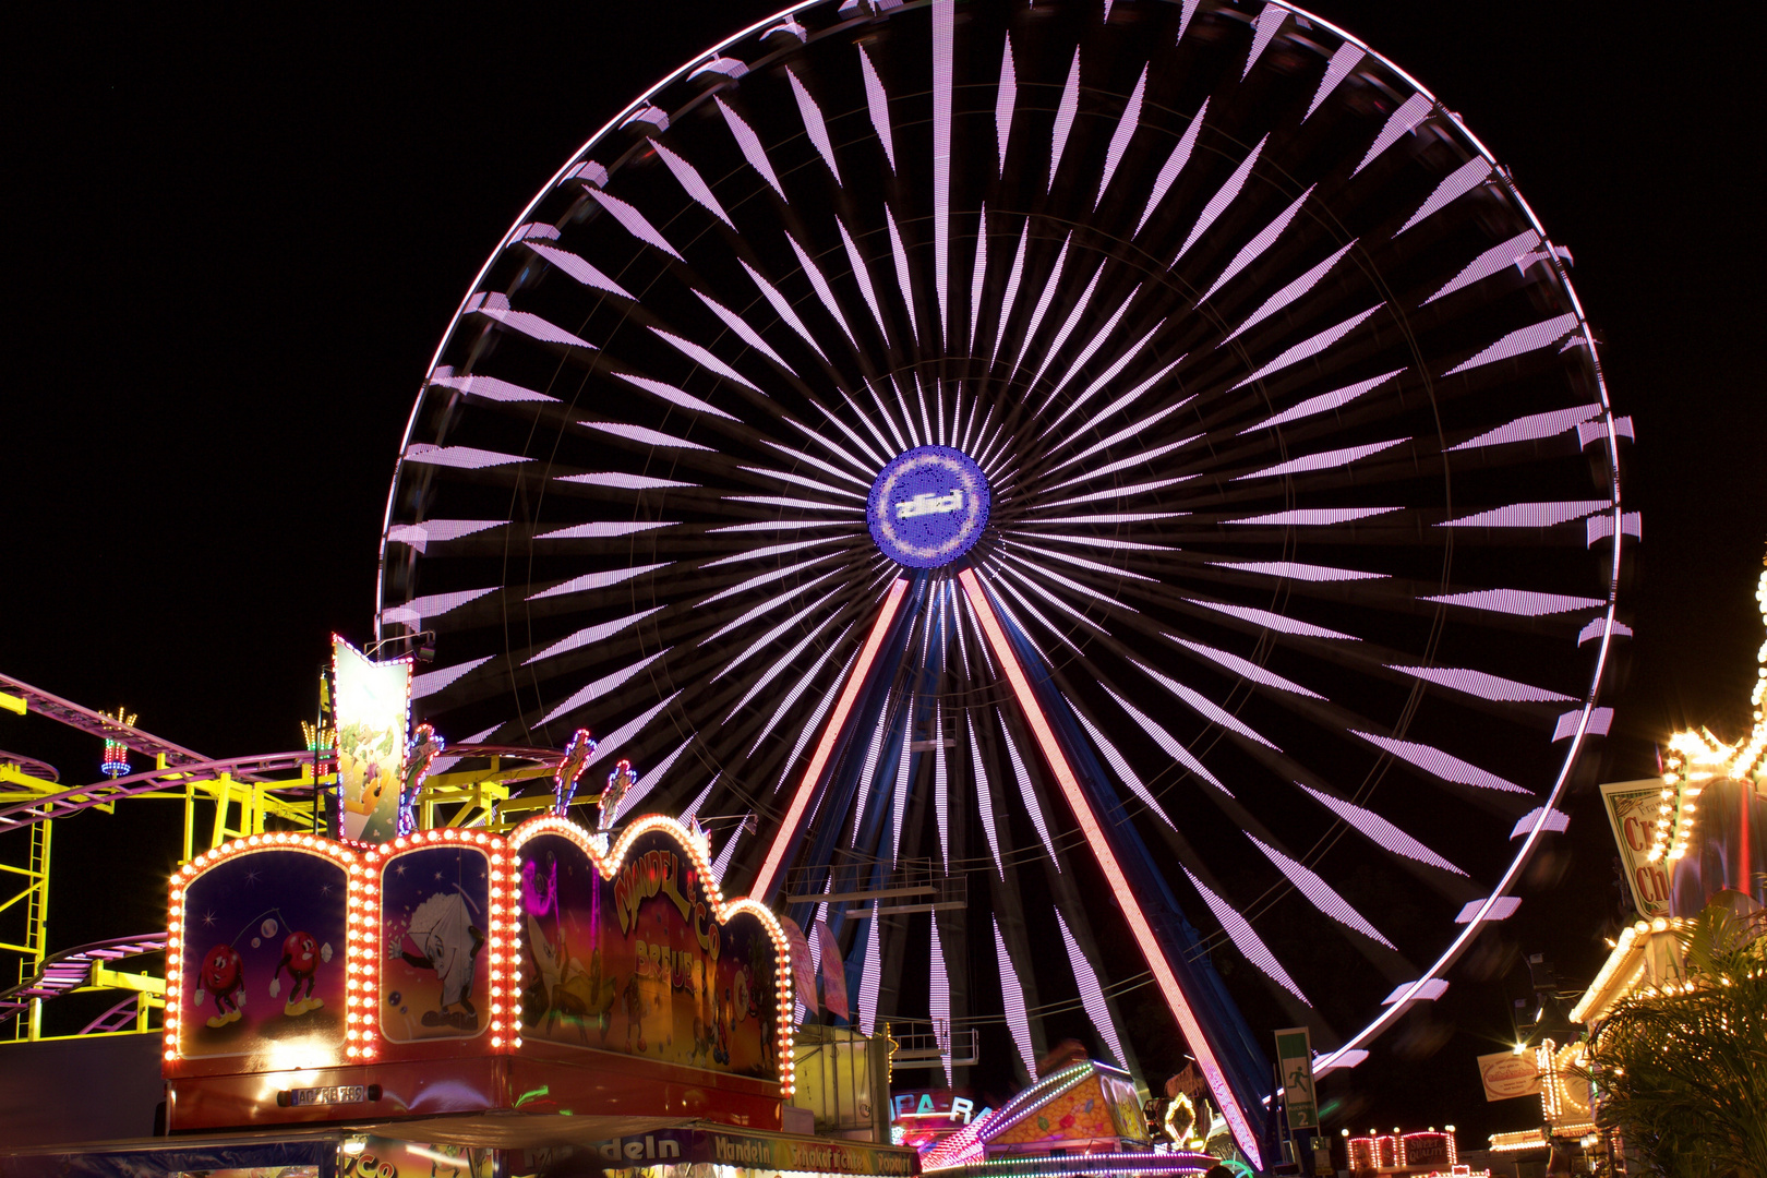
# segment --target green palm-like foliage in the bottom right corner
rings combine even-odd
[[[1657,1174],[1767,1178],[1767,920],[1719,901],[1682,925],[1686,985],[1624,998],[1583,1074]]]

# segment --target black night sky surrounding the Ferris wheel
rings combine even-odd
[[[1675,726],[1740,735],[1767,542],[1762,18],[1313,7],[1460,111],[1576,256],[1643,512],[1597,777],[1654,774]],[[327,634],[369,638],[399,438],[479,265],[603,122],[769,11],[148,5],[14,41],[0,669],[210,756],[299,747]],[[39,717],[0,714],[0,747],[97,777],[97,742]],[[1569,809],[1447,998],[1325,1081],[1334,1134],[1537,1123],[1483,1102],[1472,1056],[1509,1035],[1521,955],[1580,989],[1606,952],[1612,837],[1592,793]],[[178,821],[58,823],[53,947],[163,927]]]

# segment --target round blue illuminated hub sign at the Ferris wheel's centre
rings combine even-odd
[[[922,445],[898,456],[871,486],[871,539],[910,569],[963,556],[988,526],[988,477],[961,450]]]

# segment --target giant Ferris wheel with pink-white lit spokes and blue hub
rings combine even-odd
[[[1286,4],[799,5],[491,254],[380,632],[452,740],[587,726],[626,812],[742,819],[868,1030],[1034,1074],[1154,1010],[1256,1152],[1248,1026],[1329,1070],[1435,1000],[1606,731],[1631,426],[1569,261]],[[967,899],[880,910],[905,864]]]

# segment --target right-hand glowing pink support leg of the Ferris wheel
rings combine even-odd
[[[1255,1120],[1256,1123],[1265,1120],[1263,1109],[1244,1107],[1233,1093],[1233,1088],[1228,1084],[1226,1072],[1214,1054],[1210,1037],[1203,1031],[1202,1021],[1191,1008],[1191,1001],[1184,994],[1184,987],[1179,984],[1179,977],[1173,971],[1172,963],[1166,961],[1159,938],[1154,934],[1152,922],[1147,918],[1134,890],[1129,887],[1129,880],[1124,876],[1117,853],[1111,848],[1104,828],[1099,825],[1097,816],[1092,812],[1092,802],[1080,786],[1080,779],[1074,775],[1074,770],[1067,761],[1067,754],[1062,751],[1060,740],[1057,740],[1055,729],[1050,726],[1050,721],[1043,712],[1043,705],[1037,703],[1037,694],[1030,678],[1025,675],[1025,668],[1020,664],[1018,653],[1012,650],[1012,643],[1000,627],[1000,620],[995,616],[988,593],[982,592],[981,581],[975,578],[975,570],[961,570],[958,574],[958,581],[963,585],[963,593],[970,599],[970,606],[975,609],[982,634],[988,638],[988,646],[993,650],[995,659],[1000,662],[1000,669],[1005,673],[1007,683],[1012,687],[1012,696],[1025,712],[1025,721],[1037,738],[1037,747],[1043,749],[1050,772],[1055,774],[1055,781],[1060,784],[1062,795],[1067,798],[1067,804],[1074,812],[1074,821],[1080,823],[1080,830],[1085,834],[1087,844],[1092,848],[1092,855],[1097,858],[1099,869],[1104,872],[1104,880],[1110,883],[1111,894],[1117,897],[1117,906],[1122,910],[1129,922],[1129,929],[1134,933],[1136,943],[1141,947],[1147,968],[1154,975],[1154,982],[1159,985],[1159,993],[1166,1000],[1166,1007],[1177,1019],[1179,1031],[1184,1035],[1186,1046],[1196,1056],[1196,1067],[1209,1081],[1209,1091],[1212,1091],[1214,1099],[1221,1104],[1221,1114],[1226,1118],[1228,1127],[1233,1132],[1233,1141],[1246,1153],[1246,1157],[1251,1159],[1253,1167],[1263,1169],[1265,1141],[1263,1136],[1253,1129]]]

